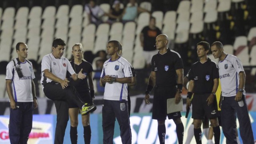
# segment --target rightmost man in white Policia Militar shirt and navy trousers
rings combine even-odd
[[[254,144],[252,124],[245,100],[245,72],[242,62],[236,56],[226,54],[221,42],[214,42],[211,47],[214,58],[220,58],[218,63],[221,83],[221,121],[222,130],[227,144],[237,144],[236,116],[244,144]]]

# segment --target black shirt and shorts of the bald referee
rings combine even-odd
[[[156,54],[151,60],[152,71],[156,72],[156,85],[153,98],[152,119],[166,120],[180,118],[180,112],[167,114],[167,99],[174,98],[177,92],[176,70],[183,68],[178,53],[167,49],[165,54]]]

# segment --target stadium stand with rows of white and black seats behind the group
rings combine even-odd
[[[96,52],[105,50],[108,40],[118,40],[123,44],[124,58],[136,70],[143,70],[145,61],[139,34],[152,15],[156,17],[158,28],[168,35],[170,48],[181,54],[185,71],[196,60],[197,42],[219,40],[228,54],[235,54],[244,66],[249,66],[248,73],[256,79],[255,0],[163,0],[162,7],[156,4],[157,0],[137,0],[138,6],[151,14],[142,12],[135,21],[112,25],[103,23],[98,27],[88,23],[84,0],[28,1],[0,2],[0,62],[8,62],[16,57],[15,46],[20,41],[28,44],[28,59],[40,64],[42,57],[51,52],[54,38],[67,42],[67,58],[71,57],[72,46],[82,42],[85,58],[90,62]],[[122,6],[128,2],[120,1],[123,2]],[[114,0],[96,2],[108,12]],[[106,21],[107,17],[104,16],[102,20]],[[209,57],[212,58],[212,55]],[[1,65],[1,69],[3,67]],[[0,88],[0,94],[5,93],[2,90]]]

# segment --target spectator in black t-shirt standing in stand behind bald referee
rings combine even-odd
[[[156,27],[156,18],[150,17],[149,25],[145,26],[140,33],[140,44],[143,47],[143,55],[146,60],[147,68],[150,68],[152,57],[157,54],[155,47],[156,36],[162,34],[161,30]]]

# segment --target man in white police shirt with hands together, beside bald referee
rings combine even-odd
[[[132,143],[132,134],[128,114],[128,86],[132,82],[132,69],[129,62],[118,55],[120,43],[111,40],[107,45],[107,54],[111,56],[102,69],[100,81],[105,85],[102,106],[103,143],[112,144],[117,119],[123,144]]]

